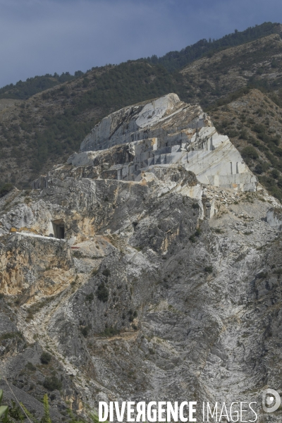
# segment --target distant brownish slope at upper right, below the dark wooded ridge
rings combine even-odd
[[[180,71],[184,95],[208,106],[243,87],[279,92],[281,45],[279,35],[269,35],[191,63]]]

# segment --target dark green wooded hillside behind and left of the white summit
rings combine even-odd
[[[78,149],[106,114],[171,92],[173,86],[164,68],[133,62],[95,69],[26,101],[11,100],[0,111],[2,182],[29,188],[39,172]]]

